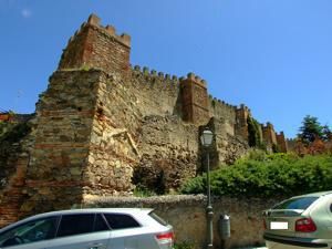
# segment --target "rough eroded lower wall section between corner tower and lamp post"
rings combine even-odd
[[[178,116],[145,116],[138,149],[134,183],[157,194],[177,189],[199,167],[197,127]]]

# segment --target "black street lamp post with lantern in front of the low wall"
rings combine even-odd
[[[209,148],[214,141],[214,133],[210,129],[203,131],[200,135],[200,143],[204,147]],[[207,152],[207,232],[208,232],[208,243],[207,248],[214,248],[214,211],[211,205],[211,186],[210,186],[210,157],[209,152]]]

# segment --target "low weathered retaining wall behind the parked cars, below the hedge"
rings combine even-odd
[[[173,225],[176,242],[189,242],[195,248],[206,247],[206,197],[198,196],[158,196],[147,198],[91,198],[82,207],[141,207],[154,208],[160,217]],[[231,237],[226,249],[258,246],[263,243],[262,210],[270,208],[276,199],[241,199],[221,197],[212,199],[214,243],[220,247],[218,220],[220,215],[230,216]]]

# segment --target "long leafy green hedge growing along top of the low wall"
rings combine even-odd
[[[216,196],[292,196],[326,190],[331,186],[331,155],[256,155],[211,172],[211,193]],[[187,181],[180,190],[184,194],[206,193],[206,175]]]

